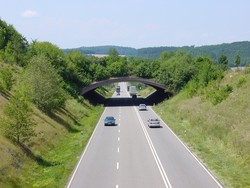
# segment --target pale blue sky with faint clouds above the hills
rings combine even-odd
[[[0,0],[0,17],[60,48],[250,41],[248,0]]]

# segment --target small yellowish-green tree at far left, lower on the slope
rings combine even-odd
[[[4,106],[2,121],[6,137],[23,144],[35,136],[32,108],[27,95],[27,88],[18,86],[9,103]]]

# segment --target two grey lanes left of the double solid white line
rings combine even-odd
[[[103,125],[108,115],[117,126]],[[105,109],[67,187],[165,187],[133,107]]]

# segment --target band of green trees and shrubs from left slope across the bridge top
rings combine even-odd
[[[12,25],[0,20],[0,92],[9,98],[1,128],[12,141],[28,142],[35,136],[34,106],[44,113],[53,113],[71,97],[82,100],[79,91],[94,81],[141,77],[162,83],[175,93],[187,88],[189,95],[194,96],[202,88],[218,83],[227,69],[225,55],[215,62],[210,56],[179,51],[163,51],[154,60],[120,56],[115,48],[102,58],[77,50],[65,53],[50,42],[28,43]],[[230,92],[230,87],[222,91]],[[214,104],[217,102],[220,99]]]

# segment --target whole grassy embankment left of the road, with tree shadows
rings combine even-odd
[[[7,99],[0,95],[0,118]],[[0,134],[0,187],[64,187],[91,136],[103,107],[71,99],[47,116],[34,109],[37,136],[32,158]]]

